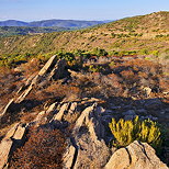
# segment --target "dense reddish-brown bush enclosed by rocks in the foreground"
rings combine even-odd
[[[14,153],[10,168],[61,168],[65,147],[64,134],[59,131],[33,129],[25,145]]]

